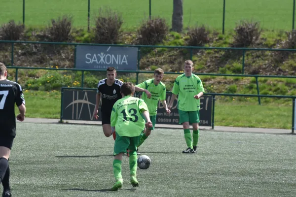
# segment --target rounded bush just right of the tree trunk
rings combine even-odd
[[[209,42],[209,30],[204,26],[196,26],[189,28],[187,35],[189,36],[188,46],[204,46]]]

